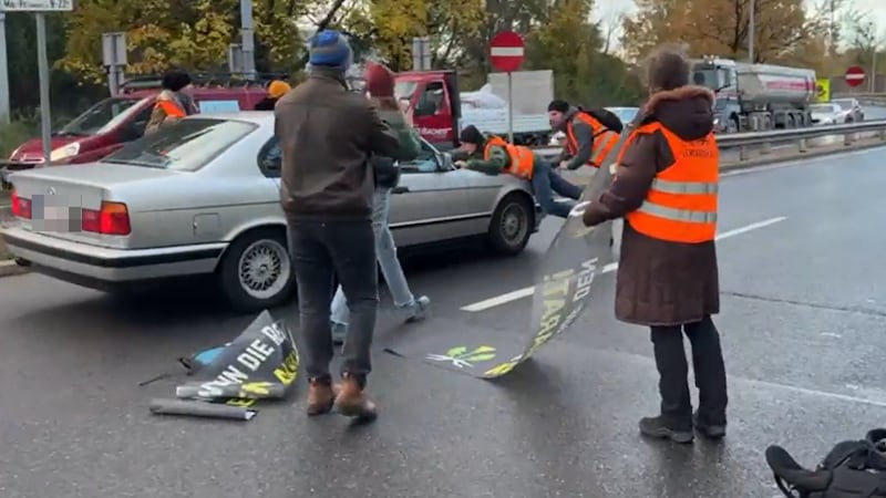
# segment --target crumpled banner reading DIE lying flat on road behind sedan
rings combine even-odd
[[[154,400],[152,413],[250,419],[256,402],[289,393],[299,354],[286,322],[262,311],[234,341],[179,361],[189,376],[178,400]]]

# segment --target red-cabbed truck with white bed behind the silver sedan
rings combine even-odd
[[[550,135],[547,104],[554,98],[553,71],[512,73],[514,142],[544,145]],[[445,151],[457,145],[459,132],[474,125],[483,132],[507,135],[507,80],[490,74],[480,92],[462,93],[453,70],[398,73],[394,94],[408,103],[419,133]]]

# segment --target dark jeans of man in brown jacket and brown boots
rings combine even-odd
[[[308,377],[330,377],[329,363],[334,353],[329,305],[338,277],[350,307],[341,371],[365,383],[372,370],[369,350],[379,304],[371,221],[290,221],[289,252],[298,281]]]

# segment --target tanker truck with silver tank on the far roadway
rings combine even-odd
[[[705,56],[692,61],[692,82],[715,93],[718,133],[812,126],[813,70]]]

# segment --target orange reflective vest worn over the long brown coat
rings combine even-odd
[[[668,141],[674,163],[659,172],[643,204],[625,219],[640,234],[670,242],[708,242],[717,236],[717,193],[720,183],[720,149],[713,133],[684,141],[660,123],[640,126],[638,134],[660,132]]]

